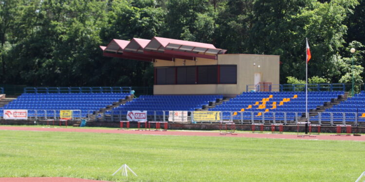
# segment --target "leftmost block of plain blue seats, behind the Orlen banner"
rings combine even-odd
[[[72,110],[73,117],[81,119],[130,95],[130,87],[26,87],[22,95],[0,109],[27,110],[28,117],[43,119],[59,118],[60,110]]]

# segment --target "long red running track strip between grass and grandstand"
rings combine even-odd
[[[220,135],[219,132],[190,132],[190,131],[135,131],[135,130],[100,130],[82,128],[30,128],[0,126],[0,130],[38,131],[38,132],[96,132],[96,133],[123,133],[123,134],[150,134],[150,135],[179,135],[179,136],[217,136],[217,137],[248,137],[248,138],[278,138],[300,140],[352,140],[365,141],[365,136],[331,136],[312,135],[315,137],[297,137],[296,134],[271,134],[271,133],[237,133],[237,135]]]

